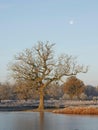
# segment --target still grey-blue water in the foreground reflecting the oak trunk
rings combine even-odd
[[[0,112],[0,130],[98,130],[98,116]]]

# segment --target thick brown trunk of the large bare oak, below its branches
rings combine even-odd
[[[39,90],[39,110],[43,110],[44,109],[44,92],[43,92],[43,88],[41,87]]]

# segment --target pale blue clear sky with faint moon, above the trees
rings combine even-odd
[[[0,82],[13,56],[40,40],[89,65],[78,77],[98,85],[98,0],[0,0]]]

